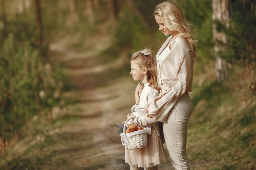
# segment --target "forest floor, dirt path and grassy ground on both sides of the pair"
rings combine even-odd
[[[127,51],[118,57],[105,54],[104,51],[112,45],[109,35],[85,40],[79,34],[58,37],[62,39],[49,46],[49,58],[61,67],[66,77],[63,97],[71,102],[64,108],[54,108],[50,120],[42,118],[41,113],[33,117],[24,130],[26,134],[14,139],[1,155],[0,170],[129,170],[124,162],[124,146],[115,127],[116,123],[124,124],[135,102],[134,91],[138,82],[133,81],[129,74],[130,56]],[[197,66],[195,63],[195,68]],[[254,169],[255,161],[252,160],[256,152],[252,147],[255,140],[248,150],[245,146],[249,137],[253,139],[255,136],[255,113],[252,110],[242,117],[243,121],[239,117],[236,120],[249,124],[249,128],[245,128],[249,135],[245,134],[241,140],[244,145],[227,141],[230,136],[227,132],[231,134],[240,130],[237,125],[235,130],[233,126],[229,131],[225,128],[230,126],[230,121],[225,120],[234,117],[232,114],[229,117],[218,115],[227,112],[225,108],[237,109],[230,104],[230,98],[224,100],[225,97],[221,96],[228,88],[214,84],[214,67],[205,73],[195,71],[194,75],[196,88],[190,95],[195,106],[189,121],[186,150],[191,170]],[[204,85],[204,82],[209,85]],[[237,97],[238,93],[235,92],[234,96]],[[221,103],[220,98],[223,99]],[[220,103],[219,107],[213,105],[216,101]],[[255,102],[251,105],[255,106]],[[211,113],[214,113],[213,117]],[[210,121],[205,121],[207,119]],[[169,160],[165,145],[164,148]],[[241,155],[244,161],[236,161]],[[159,170],[173,170],[170,161],[158,167]]]

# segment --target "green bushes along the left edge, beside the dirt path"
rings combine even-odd
[[[24,132],[34,115],[49,114],[54,106],[64,104],[63,75],[47,61],[47,42],[43,46],[36,42],[34,8],[5,15],[8,20],[0,28],[4,33],[0,34],[0,137],[11,139]],[[49,28],[45,24],[45,30]]]

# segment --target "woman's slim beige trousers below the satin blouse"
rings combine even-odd
[[[190,170],[186,158],[186,138],[193,104],[189,93],[180,97],[163,123],[164,139],[175,170]]]

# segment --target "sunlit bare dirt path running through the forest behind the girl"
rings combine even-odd
[[[105,44],[104,40],[99,42],[102,42],[100,45]],[[128,170],[129,166],[124,163],[124,146],[114,127],[116,123],[123,124],[127,113],[130,113],[136,82],[132,81],[129,73],[116,79],[109,71],[118,71],[128,56],[121,54],[115,62],[102,63],[99,50],[97,53],[95,49],[77,53],[58,44],[52,44],[51,50],[58,52],[61,56],[58,60],[68,66],[65,73],[75,87],[72,95],[79,101],[76,106],[81,119],[67,129],[71,133],[87,131],[90,134],[89,139],[80,141],[84,142],[81,150],[69,153],[76,155],[76,159],[72,159],[73,164],[81,165],[79,168],[87,167],[85,170]],[[163,164],[159,170],[170,169],[169,165]]]

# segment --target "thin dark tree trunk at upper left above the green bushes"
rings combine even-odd
[[[43,44],[43,24],[41,19],[40,0],[34,0],[35,2],[35,13],[36,13],[36,25],[38,32],[38,45]]]

